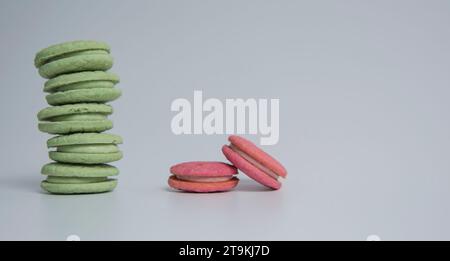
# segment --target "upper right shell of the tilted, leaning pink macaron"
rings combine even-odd
[[[236,148],[250,156],[253,160],[272,170],[277,175],[283,178],[287,176],[287,171],[280,162],[258,148],[251,141],[236,135],[231,135],[228,140],[230,141],[231,145],[235,146]]]

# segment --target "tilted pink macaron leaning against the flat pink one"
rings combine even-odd
[[[280,177],[287,176],[281,163],[242,137],[232,135],[228,140],[230,145],[224,145],[222,152],[234,166],[264,186],[281,188]]]

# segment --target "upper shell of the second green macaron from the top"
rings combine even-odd
[[[120,79],[116,74],[104,71],[87,71],[63,74],[46,81],[44,91],[52,92],[70,84],[91,81],[108,81],[116,84],[120,81]]]

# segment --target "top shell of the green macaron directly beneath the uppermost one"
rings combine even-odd
[[[119,76],[109,72],[79,72],[63,74],[45,82],[45,92],[59,92],[92,88],[112,88],[120,81]]]

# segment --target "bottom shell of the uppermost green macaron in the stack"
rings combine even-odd
[[[112,65],[113,58],[109,54],[76,55],[42,65],[39,67],[39,74],[50,79],[65,73],[106,71]]]

